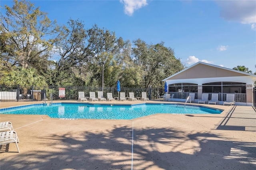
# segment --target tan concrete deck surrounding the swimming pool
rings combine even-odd
[[[0,102],[0,108],[31,103],[42,102]],[[0,122],[12,122],[18,134],[20,153],[14,143],[0,146],[0,169],[256,169],[254,109],[204,106],[224,111],[219,115],[156,114],[132,120],[1,114]]]

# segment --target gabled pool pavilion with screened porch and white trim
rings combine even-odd
[[[235,94],[236,105],[253,105],[253,86],[256,75],[198,62],[186,69],[167,77],[167,91],[174,94],[174,101],[186,101],[189,93],[195,93],[196,101],[202,93],[218,93],[219,104],[226,101],[226,95]]]

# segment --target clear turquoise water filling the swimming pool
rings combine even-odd
[[[0,114],[48,115],[65,119],[134,119],[156,113],[220,114],[222,110],[179,104],[102,105],[53,103],[0,109]]]

